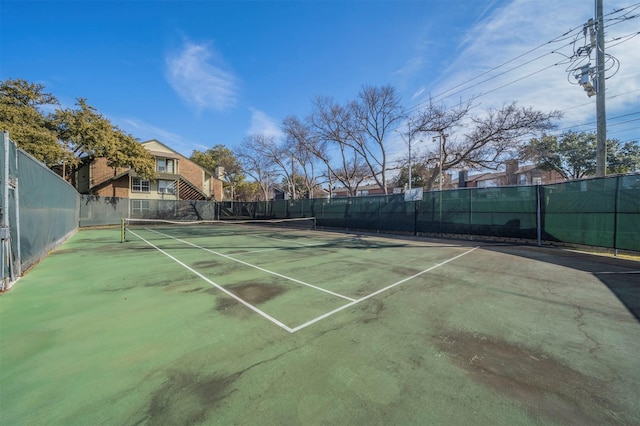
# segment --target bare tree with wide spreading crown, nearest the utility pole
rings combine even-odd
[[[559,111],[545,113],[515,103],[489,109],[482,116],[471,115],[472,109],[472,101],[453,108],[430,103],[411,117],[415,136],[437,137],[438,146],[418,156],[431,170],[428,190],[446,170],[497,169],[517,155],[523,137],[552,129],[552,120],[562,117]]]

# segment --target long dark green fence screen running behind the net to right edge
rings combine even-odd
[[[92,208],[96,211],[90,211]],[[555,185],[462,188],[261,202],[83,198],[81,226],[101,217],[176,220],[315,217],[319,227],[428,236],[502,237],[640,251],[640,174]]]

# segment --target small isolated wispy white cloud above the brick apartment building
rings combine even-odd
[[[218,56],[209,43],[190,41],[166,56],[167,81],[187,104],[198,110],[223,111],[238,102],[237,78],[223,69]]]

